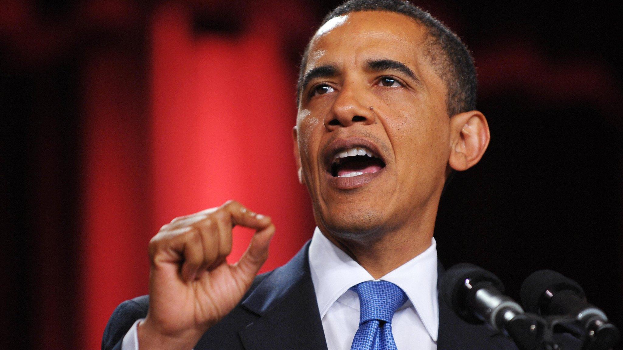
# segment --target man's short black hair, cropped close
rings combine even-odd
[[[476,108],[478,79],[472,55],[459,36],[450,31],[441,21],[409,1],[349,0],[326,15],[320,26],[335,17],[359,11],[396,12],[409,16],[418,24],[426,27],[428,33],[423,48],[424,54],[447,87],[448,114],[453,116]],[[311,44],[312,40],[307,44],[301,61],[297,85],[297,105],[300,102],[302,79]]]

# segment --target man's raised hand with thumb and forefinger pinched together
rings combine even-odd
[[[229,265],[235,225],[257,232]],[[140,349],[192,349],[249,289],[274,233],[270,217],[235,201],[164,225],[149,244],[150,308],[138,324]]]

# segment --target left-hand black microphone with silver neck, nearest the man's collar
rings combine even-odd
[[[525,315],[515,300],[503,295],[504,285],[492,272],[459,263],[449,268],[440,283],[440,295],[468,323],[487,323],[510,336],[522,350],[538,349],[543,341],[538,321]]]

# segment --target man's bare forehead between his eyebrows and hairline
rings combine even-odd
[[[312,38],[305,70],[377,58],[417,67],[423,63],[426,33],[414,19],[395,12],[361,11],[334,17]]]

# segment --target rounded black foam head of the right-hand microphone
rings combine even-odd
[[[578,282],[552,270],[540,270],[532,273],[521,284],[521,304],[526,312],[540,314],[543,300],[548,298],[546,291],[556,293],[563,290],[574,291],[580,298],[584,298],[584,290]]]

